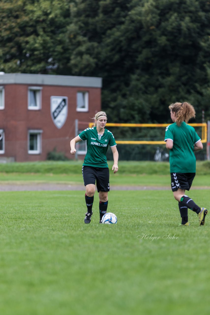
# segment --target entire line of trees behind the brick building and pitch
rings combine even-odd
[[[2,0],[0,71],[103,78],[109,122],[210,119],[210,2]]]

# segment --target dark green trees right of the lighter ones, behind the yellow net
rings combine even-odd
[[[90,9],[90,10],[89,10]],[[71,72],[103,77],[112,121],[170,121],[168,105],[208,106],[210,4],[197,0],[76,1]]]

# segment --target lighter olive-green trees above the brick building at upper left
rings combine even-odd
[[[4,72],[56,73],[68,55],[69,0],[2,0],[0,68]]]

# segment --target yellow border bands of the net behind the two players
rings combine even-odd
[[[106,123],[106,127],[167,127],[168,123]],[[201,129],[201,142],[207,142],[207,123],[189,123],[193,127],[202,127]],[[89,128],[93,123],[89,123]],[[117,144],[165,144],[165,141],[127,141],[116,140]]]

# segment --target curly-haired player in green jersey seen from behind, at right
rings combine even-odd
[[[190,190],[196,175],[196,157],[194,151],[203,148],[201,138],[195,129],[188,125],[190,118],[195,117],[194,107],[187,103],[173,103],[169,106],[173,124],[166,127],[166,147],[170,150],[169,162],[171,173],[171,188],[174,198],[179,202],[182,226],[189,226],[188,208],[195,211],[199,225],[204,225],[206,208],[200,208],[185,190]]]

